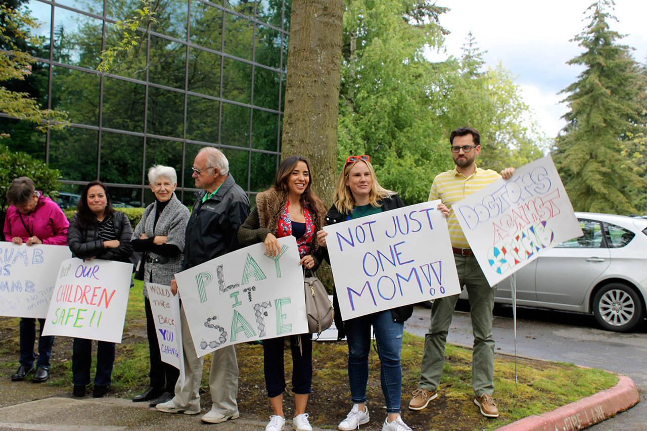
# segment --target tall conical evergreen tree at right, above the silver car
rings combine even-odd
[[[589,6],[591,22],[573,39],[584,52],[568,64],[586,69],[562,91],[569,94],[564,101],[570,111],[554,159],[573,208],[628,214],[635,212],[631,190],[643,180],[624,155],[623,141],[644,126],[637,97],[643,81],[631,48],[609,28],[608,21],[617,20],[609,12],[613,5],[600,0]]]

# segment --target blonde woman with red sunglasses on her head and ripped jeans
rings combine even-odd
[[[346,159],[334,192],[334,204],[326,216],[326,223],[332,225],[342,221],[358,219],[382,211],[404,206],[402,199],[386,190],[377,182],[371,157],[368,155],[351,156]],[[317,241],[325,247],[327,232],[320,230]],[[404,321],[413,313],[412,305],[378,311],[371,315],[360,316],[342,321],[336,293],[333,298],[334,323],[341,340],[346,336],[348,343],[348,380],[351,386],[353,408],[338,428],[350,431],[369,422],[366,406],[366,386],[368,383],[368,355],[371,348],[371,326],[377,342],[380,357],[380,381],[386,401],[386,419],[382,431],[410,431],[400,417],[400,398],[402,397],[402,331]]]

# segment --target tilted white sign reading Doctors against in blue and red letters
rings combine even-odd
[[[490,285],[555,245],[582,235],[550,156],[492,182],[454,204],[470,248]]]

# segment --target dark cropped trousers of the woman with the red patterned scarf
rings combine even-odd
[[[296,337],[301,337],[303,355],[299,351]],[[277,397],[285,391],[284,338],[263,340],[265,388],[270,398]],[[313,341],[310,339],[310,334],[291,335],[289,339],[292,349],[292,392],[311,393],[313,392]]]

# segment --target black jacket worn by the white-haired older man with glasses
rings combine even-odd
[[[204,203],[204,190],[196,193],[186,225],[182,271],[240,249],[238,228],[249,216],[249,199],[230,173],[215,196]]]

